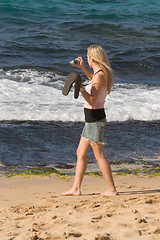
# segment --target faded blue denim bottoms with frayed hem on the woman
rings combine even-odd
[[[106,119],[99,120],[97,122],[85,122],[85,126],[82,131],[82,137],[88,139],[91,142],[104,142],[104,132],[106,128]]]

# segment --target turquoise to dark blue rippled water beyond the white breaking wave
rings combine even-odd
[[[1,1],[0,67],[68,73],[95,43],[116,72],[150,73],[159,84],[159,12],[159,1]]]

